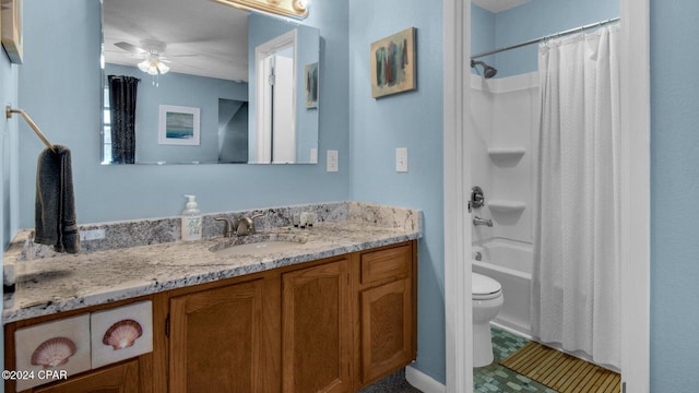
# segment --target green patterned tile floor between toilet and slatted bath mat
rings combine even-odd
[[[556,393],[536,381],[502,367],[499,361],[529,343],[529,340],[490,325],[495,361],[473,369],[473,391],[483,393],[543,392]]]

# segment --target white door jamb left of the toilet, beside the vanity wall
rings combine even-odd
[[[469,1],[445,0],[443,198],[445,198],[445,319],[447,391],[473,390],[470,221],[465,219],[465,189],[471,164],[465,121],[470,110],[469,64],[471,7]]]

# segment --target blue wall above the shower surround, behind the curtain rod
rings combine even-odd
[[[472,52],[503,48],[616,16],[618,0],[536,0],[495,14],[472,5]],[[493,47],[488,48],[488,43]],[[496,78],[505,78],[536,71],[536,51],[537,46],[530,45],[477,60],[486,60],[498,69]]]

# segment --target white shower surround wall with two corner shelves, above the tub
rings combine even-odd
[[[473,242],[507,239],[531,246],[538,73],[491,80],[471,75],[471,179],[483,188],[486,204],[474,213],[494,223],[475,227]]]

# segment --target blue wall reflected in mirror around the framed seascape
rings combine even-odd
[[[215,78],[175,72],[158,76],[144,74],[135,67],[105,64],[105,75],[129,75],[141,80],[135,110],[135,159],[139,163],[218,162],[218,98],[248,100],[248,84]],[[174,105],[200,109],[198,146],[161,145],[159,106]]]

